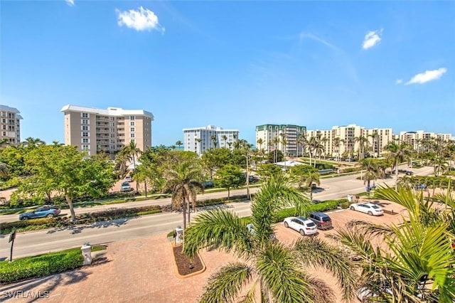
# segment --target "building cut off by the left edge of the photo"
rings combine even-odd
[[[16,147],[21,143],[20,113],[14,107],[0,105],[0,140]]]

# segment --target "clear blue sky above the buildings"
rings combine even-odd
[[[183,128],[358,124],[455,135],[454,1],[1,1],[0,103],[63,142],[63,105]]]

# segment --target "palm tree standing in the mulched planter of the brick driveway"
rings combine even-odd
[[[172,191],[171,203],[174,210],[183,210],[183,232],[186,229],[186,210],[188,208],[188,223],[190,222],[190,203],[193,212],[196,211],[196,195],[203,191],[200,183],[200,167],[192,160],[179,161],[166,172],[167,187]]]

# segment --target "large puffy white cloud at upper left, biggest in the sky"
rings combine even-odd
[[[158,22],[158,16],[149,9],[139,7],[139,11],[130,9],[129,11],[119,11],[116,9],[118,15],[119,26],[127,26],[134,28],[136,31],[150,31],[152,29],[164,33],[164,27]]]

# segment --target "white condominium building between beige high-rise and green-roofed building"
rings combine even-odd
[[[194,151],[199,156],[207,149],[224,147],[234,149],[234,142],[239,137],[237,129],[223,129],[208,125],[207,127],[196,127],[183,129],[183,149]]]

